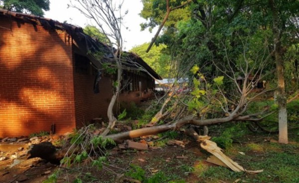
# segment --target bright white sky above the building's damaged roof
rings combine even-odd
[[[67,8],[69,0],[50,0],[50,10],[45,11],[44,17],[67,23],[85,27],[90,22],[83,14],[75,8]],[[129,51],[136,45],[141,45],[145,42],[150,42],[157,28],[153,29],[152,33],[149,30],[141,31],[140,23],[146,20],[140,17],[139,13],[143,8],[141,0],[124,0],[122,11],[128,10],[128,14],[124,17],[124,25],[129,27],[125,29],[123,26],[122,36],[124,39],[124,49]]]

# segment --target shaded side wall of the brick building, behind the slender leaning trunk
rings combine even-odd
[[[73,56],[74,60],[75,57],[76,56]],[[86,60],[86,62],[89,61]],[[94,93],[93,86],[96,75],[92,74],[92,72],[80,73],[76,70],[80,69],[76,69],[74,63],[74,93],[76,106],[75,116],[77,127],[82,127],[84,124],[89,124],[93,118],[101,117],[103,119],[107,119],[107,109],[113,94],[111,77],[108,75],[104,76],[104,74],[102,74],[101,80],[99,82],[100,92]],[[150,82],[147,82],[146,84]],[[118,100],[116,101],[116,105],[123,103],[130,104],[131,102],[139,104],[142,99],[148,98],[150,96],[152,96],[151,90],[148,92],[143,91],[141,93],[139,91],[124,91],[120,94]],[[114,108],[115,113],[116,105]]]

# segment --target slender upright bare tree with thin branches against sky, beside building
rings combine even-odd
[[[113,83],[114,93],[107,110],[109,124],[107,129],[101,134],[106,136],[117,121],[114,116],[113,108],[122,89],[123,38],[121,34],[121,27],[123,19],[122,16],[124,16],[121,11],[122,3],[116,5],[114,0],[71,0],[69,6],[76,8],[87,18],[90,18],[95,22],[97,28],[101,33],[103,33],[105,39],[108,41],[107,44],[112,57],[105,59],[115,63],[113,66],[116,69],[117,79]],[[97,58],[97,54],[94,54],[94,56]],[[97,59],[101,60],[102,56]],[[104,63],[102,63],[102,65],[104,65]]]

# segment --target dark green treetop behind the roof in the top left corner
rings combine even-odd
[[[0,0],[3,9],[43,16],[50,9],[49,0]]]

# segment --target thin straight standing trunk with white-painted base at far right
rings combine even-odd
[[[280,40],[280,17],[278,16],[277,7],[274,0],[269,0],[272,11],[273,25],[272,30],[274,34],[274,51],[276,71],[278,78],[278,122],[279,122],[279,143],[288,144],[288,118],[287,118],[287,98],[285,92],[284,79],[284,63],[282,58],[282,45]]]

